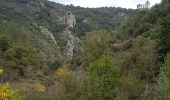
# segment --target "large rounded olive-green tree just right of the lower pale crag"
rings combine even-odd
[[[106,30],[95,30],[83,38],[83,61],[90,63],[98,59],[108,48],[112,41],[111,33]]]

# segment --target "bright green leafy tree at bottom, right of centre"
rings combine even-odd
[[[113,58],[104,55],[88,67],[88,76],[81,85],[83,100],[112,100],[117,95],[121,68],[113,66]]]

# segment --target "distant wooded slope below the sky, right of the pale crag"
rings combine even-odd
[[[136,14],[134,9],[120,7],[81,8],[73,5],[56,5],[58,8],[71,11],[76,16],[77,24],[74,32],[79,37],[93,29],[116,29],[122,22],[126,22]]]

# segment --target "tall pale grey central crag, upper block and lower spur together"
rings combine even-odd
[[[55,23],[66,25],[65,31],[62,32],[62,40],[66,41],[66,45],[62,52],[67,59],[71,60],[74,52],[81,48],[79,38],[75,37],[69,30],[69,28],[74,28],[76,24],[75,16],[71,12],[53,9],[51,10],[51,17]]]

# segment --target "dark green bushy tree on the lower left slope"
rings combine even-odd
[[[42,59],[38,53],[23,45],[13,45],[5,52],[6,67],[19,71],[19,75],[25,76],[26,70],[32,67],[32,71],[41,67]],[[36,66],[36,67],[35,67]],[[10,70],[9,70],[10,71]]]

